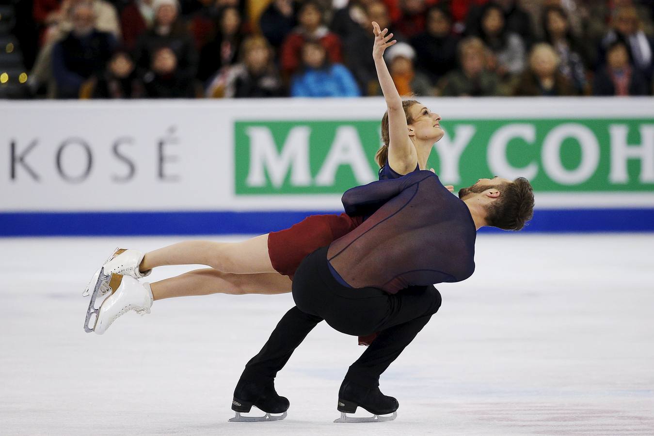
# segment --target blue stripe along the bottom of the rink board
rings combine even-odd
[[[261,234],[320,211],[0,212],[0,237]],[[484,233],[501,230],[485,227]],[[652,232],[654,209],[543,209],[525,231]]]

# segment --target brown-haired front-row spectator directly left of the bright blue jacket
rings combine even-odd
[[[252,36],[241,46],[243,60],[226,67],[207,88],[207,97],[281,97],[284,87],[264,37]]]

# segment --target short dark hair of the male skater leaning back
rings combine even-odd
[[[500,197],[486,207],[487,224],[504,230],[522,229],[534,216],[534,188],[529,180],[518,177],[503,184],[500,192]]]

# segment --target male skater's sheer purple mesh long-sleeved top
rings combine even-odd
[[[370,215],[327,252],[353,288],[396,293],[472,275],[477,231],[470,210],[431,171],[357,186],[343,194],[343,206],[351,216]]]

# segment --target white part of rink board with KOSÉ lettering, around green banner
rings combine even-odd
[[[441,115],[446,128],[448,118],[645,118],[654,123],[651,97],[421,102]],[[384,111],[379,98],[2,101],[0,212],[338,210],[340,195],[333,192],[237,195],[235,122],[381,120]],[[558,152],[557,146],[549,150]],[[646,147],[643,156],[636,156],[642,165],[649,165]],[[332,180],[336,173],[325,174]],[[652,192],[539,193],[538,199],[545,207],[654,206]]]

